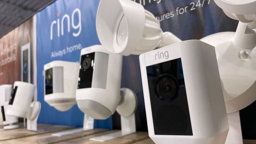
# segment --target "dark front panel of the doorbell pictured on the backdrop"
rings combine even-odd
[[[22,51],[22,80],[23,82],[29,82],[29,50]]]

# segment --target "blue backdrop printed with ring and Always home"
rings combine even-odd
[[[80,49],[100,44],[95,27],[100,0],[57,0],[37,14],[37,85],[42,104],[38,123],[83,126],[77,105],[59,112],[44,101],[44,64],[54,61],[78,62]],[[112,129],[112,118],[95,120],[95,128]]]

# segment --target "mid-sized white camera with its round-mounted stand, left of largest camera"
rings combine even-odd
[[[81,50],[76,100],[80,110],[95,119],[106,119],[117,110],[121,131],[91,138],[107,141],[136,132],[136,94],[121,88],[122,56],[110,53],[101,45]]]

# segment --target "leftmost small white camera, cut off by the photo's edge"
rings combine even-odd
[[[11,96],[11,91],[12,91],[13,86],[12,85],[0,85],[0,109],[1,109],[1,114],[0,114],[0,125],[12,125],[13,123],[18,122],[17,117],[13,116],[8,116],[5,115],[8,102]],[[10,126],[9,126],[10,127]],[[18,125],[12,125],[12,128],[18,128]],[[7,128],[5,126],[5,128]]]

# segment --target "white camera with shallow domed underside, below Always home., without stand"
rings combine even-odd
[[[77,102],[79,64],[67,61],[52,61],[45,64],[45,101],[59,111],[67,111]]]

